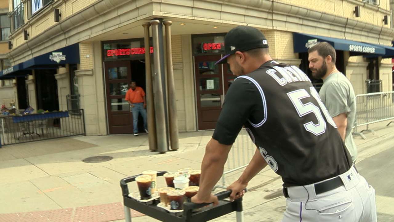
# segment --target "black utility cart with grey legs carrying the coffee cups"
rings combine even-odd
[[[157,177],[163,176],[166,171],[159,171],[157,173]],[[219,205],[212,207],[205,207],[200,211],[193,213],[193,209],[199,209],[201,207],[209,205],[209,203],[184,203],[184,211],[183,214],[177,216],[175,214],[171,214],[167,212],[165,209],[157,207],[159,201],[156,199],[151,205],[147,205],[145,203],[141,203],[133,198],[128,196],[128,186],[127,183],[135,181],[136,177],[140,176],[135,175],[132,177],[127,177],[121,180],[121,188],[123,195],[123,203],[125,205],[125,221],[131,222],[131,214],[130,209],[134,209],[140,213],[143,213],[147,216],[155,218],[157,220],[163,222],[204,222],[208,220],[212,220],[219,216],[223,216],[225,214],[232,213],[236,211],[237,222],[243,222],[243,212],[242,212],[242,198],[236,199],[234,201],[225,200],[231,194],[231,190],[223,191],[215,194],[219,199]]]

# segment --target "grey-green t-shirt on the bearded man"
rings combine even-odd
[[[319,96],[331,117],[336,117],[341,113],[347,114],[348,126],[346,127],[345,146],[348,148],[351,159],[355,162],[357,147],[351,135],[351,130],[356,124],[356,101],[353,86],[341,72],[332,73],[323,80]]]

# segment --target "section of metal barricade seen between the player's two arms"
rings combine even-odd
[[[231,147],[221,182],[215,188],[226,188],[226,177],[229,173],[247,167],[255,154],[256,146],[249,137],[246,129],[242,129]]]

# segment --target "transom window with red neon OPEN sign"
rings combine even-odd
[[[193,54],[224,54],[224,34],[192,36]]]

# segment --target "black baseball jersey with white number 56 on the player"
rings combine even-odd
[[[352,164],[334,120],[297,66],[271,60],[236,78],[212,137],[230,145],[242,126],[284,186],[323,181]]]

